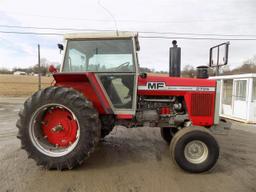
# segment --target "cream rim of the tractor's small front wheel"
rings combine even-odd
[[[207,145],[199,140],[193,140],[186,144],[184,156],[187,161],[193,164],[200,164],[206,161],[209,155]]]

